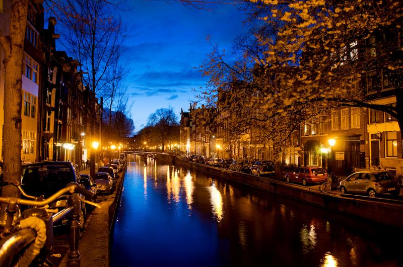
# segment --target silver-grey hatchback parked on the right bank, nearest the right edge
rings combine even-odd
[[[340,192],[365,194],[370,197],[389,193],[395,197],[400,194],[400,184],[389,171],[358,171],[340,182]]]

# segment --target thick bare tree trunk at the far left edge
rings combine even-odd
[[[3,180],[20,180],[21,170],[21,107],[24,39],[27,27],[28,0],[15,0],[10,16],[9,36],[0,38],[5,54]],[[2,196],[18,196],[15,187],[4,187]]]

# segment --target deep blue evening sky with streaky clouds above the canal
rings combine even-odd
[[[213,10],[206,11],[165,1],[129,3],[131,10],[121,16],[130,32],[124,58],[132,69],[126,81],[137,132],[159,108],[170,105],[178,117],[181,108],[188,110],[192,88],[204,86],[208,79],[194,68],[212,51],[207,36],[230,55],[232,41],[246,26],[243,12],[233,5],[210,6]]]

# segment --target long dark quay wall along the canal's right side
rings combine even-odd
[[[268,177],[258,177],[241,172],[224,170],[198,164],[169,155],[157,155],[157,159],[174,162],[191,171],[202,171],[244,185],[263,189],[298,201],[313,204],[328,210],[353,215],[354,217],[403,228],[403,202],[389,199],[372,199],[365,196],[322,193],[317,189],[289,184]]]

